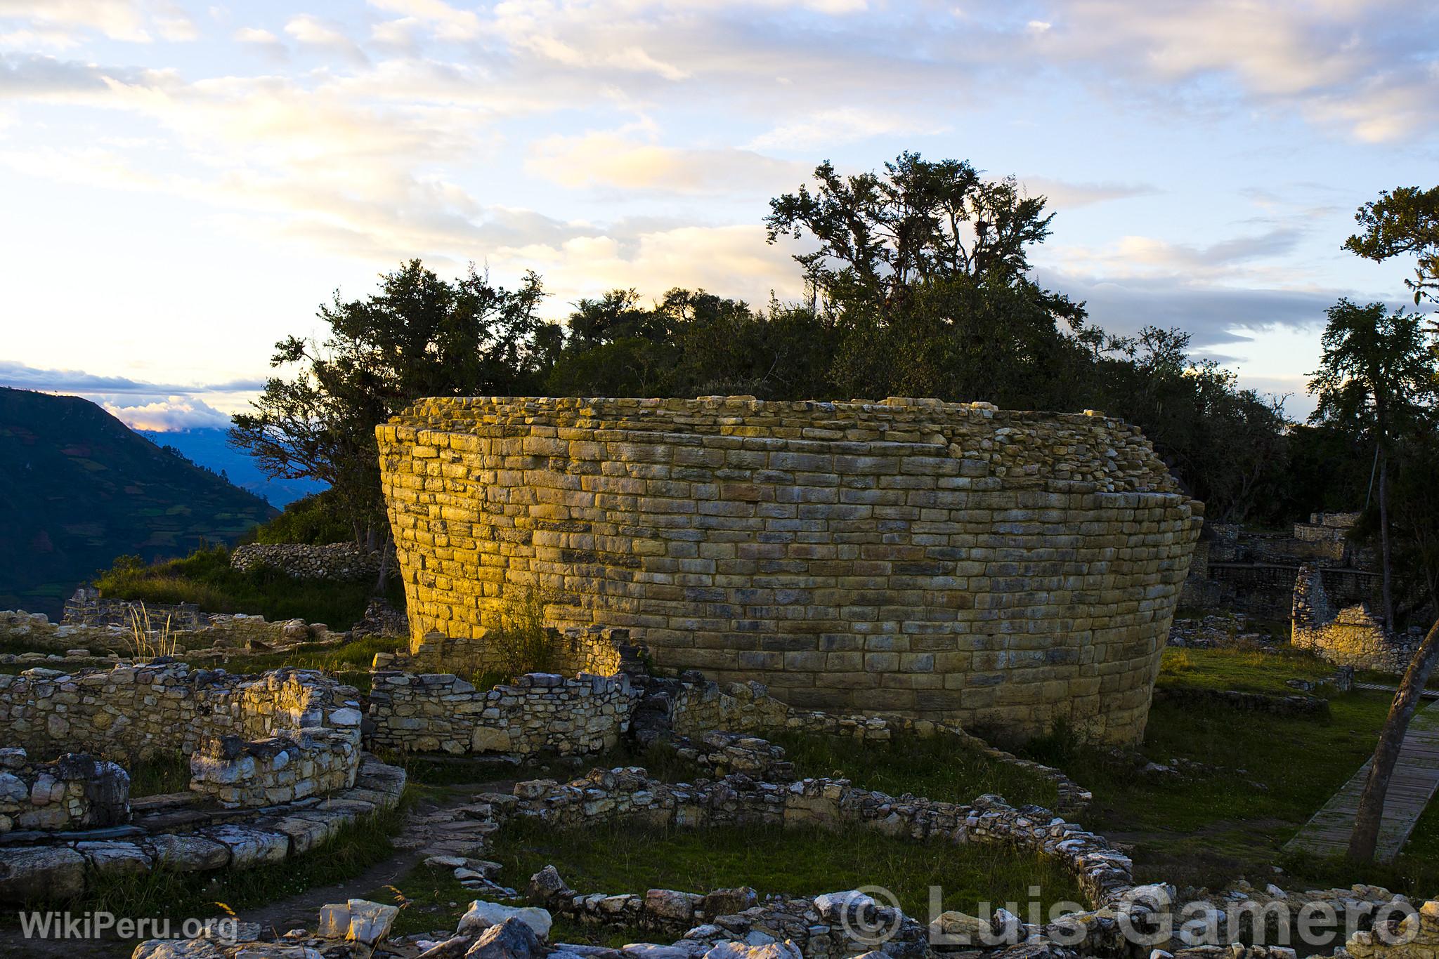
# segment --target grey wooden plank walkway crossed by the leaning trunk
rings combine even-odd
[[[1344,855],[1348,851],[1350,832],[1354,831],[1358,795],[1364,789],[1368,766],[1366,762],[1344,788],[1304,824],[1285,848],[1305,850],[1318,855]],[[1389,794],[1384,797],[1384,818],[1380,821],[1379,845],[1374,853],[1379,861],[1387,863],[1399,855],[1415,822],[1419,821],[1419,814],[1425,811],[1436,789],[1439,789],[1439,702],[1416,713],[1409,723],[1399,763],[1394,766]]]

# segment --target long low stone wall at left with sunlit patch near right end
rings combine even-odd
[[[193,753],[206,738],[265,739],[312,728],[360,738],[358,693],[315,670],[232,676],[157,661],[109,670],[0,674],[0,743],[72,751]]]

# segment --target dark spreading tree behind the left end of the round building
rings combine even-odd
[[[337,290],[319,308],[327,339],[275,345],[271,365],[294,374],[233,417],[230,443],[271,477],[328,483],[355,541],[387,551],[376,426],[420,397],[532,391],[557,342],[535,316],[543,295],[534,273],[507,290],[473,266],[448,282],[420,260],[364,299]]]

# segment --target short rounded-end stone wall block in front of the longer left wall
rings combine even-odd
[[[348,730],[318,729],[246,742],[216,736],[190,756],[190,789],[226,808],[294,802],[354,785],[360,745]]]

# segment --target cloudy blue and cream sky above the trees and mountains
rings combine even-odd
[[[1426,0],[0,0],[0,384],[223,424],[334,289],[422,256],[547,311],[797,296],[767,200],[901,150],[1059,211],[1039,279],[1298,394],[1439,181]]]

